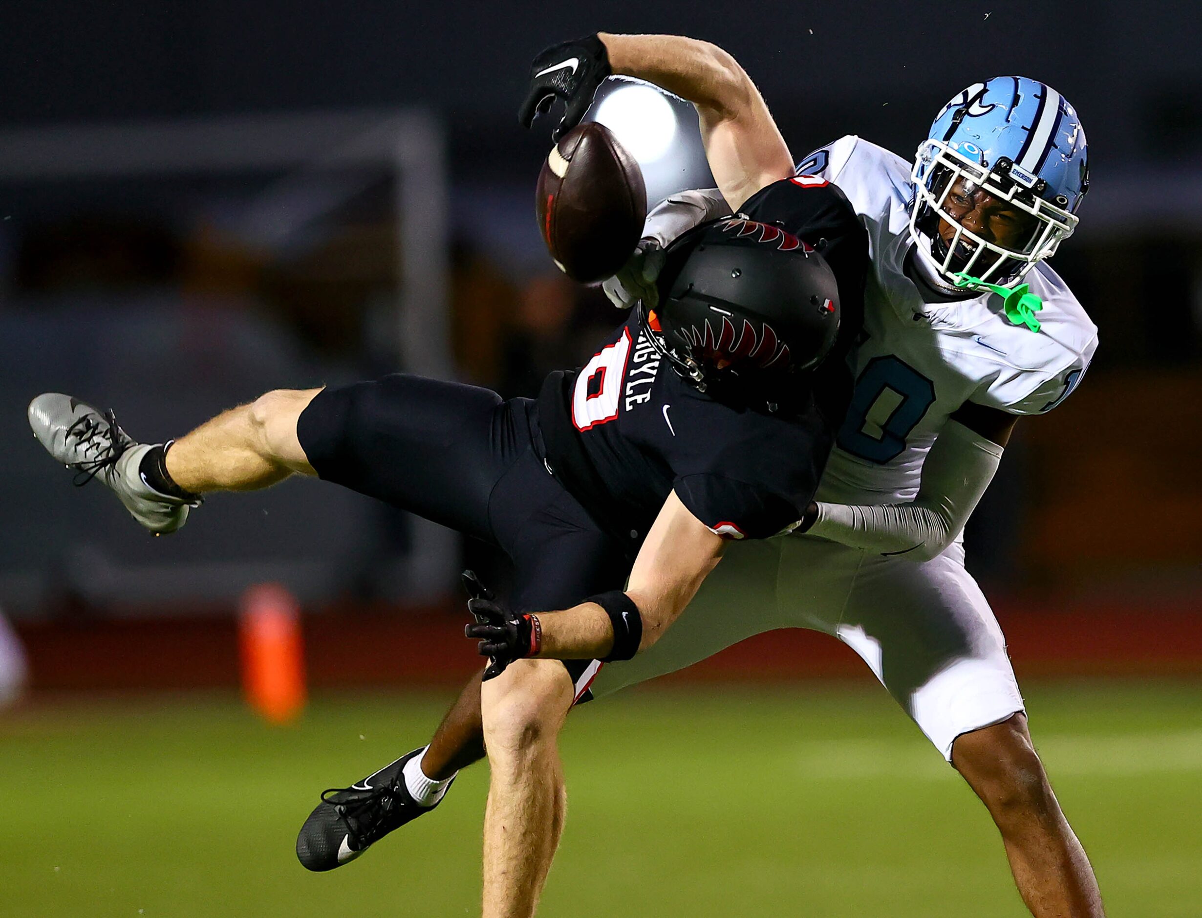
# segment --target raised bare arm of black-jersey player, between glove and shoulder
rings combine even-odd
[[[706,156],[732,211],[793,174],[793,160],[751,77],[716,45],[683,35],[597,32],[614,73],[645,79],[692,102]]]

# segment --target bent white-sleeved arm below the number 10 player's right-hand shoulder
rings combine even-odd
[[[882,555],[930,561],[960,534],[1001,462],[1013,415],[965,403],[935,438],[914,501],[810,505],[801,532]]]

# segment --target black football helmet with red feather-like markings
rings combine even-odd
[[[798,383],[839,332],[834,272],[779,226],[739,217],[704,224],[667,249],[651,342],[702,392],[737,385],[769,393]]]

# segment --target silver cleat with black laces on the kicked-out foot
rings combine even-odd
[[[44,392],[29,403],[34,436],[70,469],[76,485],[96,478],[113,490],[125,509],[156,535],[175,532],[198,502],[155,491],[139,472],[142,458],[161,444],[138,444],[123,431],[112,411],[101,413],[85,402],[59,392]]]

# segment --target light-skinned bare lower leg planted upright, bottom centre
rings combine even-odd
[[[481,688],[492,769],[483,918],[534,914],[564,829],[557,740],[573,697],[571,676],[558,661],[518,661]]]

